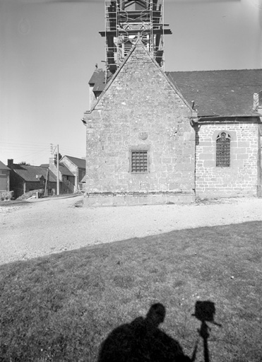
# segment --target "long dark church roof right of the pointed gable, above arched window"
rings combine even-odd
[[[262,69],[169,71],[167,76],[198,116],[256,115],[253,95],[262,89]]]

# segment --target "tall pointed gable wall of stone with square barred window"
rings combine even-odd
[[[85,113],[86,194],[194,195],[195,132],[190,116],[189,106],[138,44],[95,109]],[[130,172],[134,149],[148,150],[148,173]]]

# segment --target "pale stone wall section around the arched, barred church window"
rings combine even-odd
[[[216,167],[216,139],[228,132],[230,167]],[[196,197],[257,196],[261,183],[258,124],[201,124],[196,142]],[[198,139],[197,137],[197,139]]]

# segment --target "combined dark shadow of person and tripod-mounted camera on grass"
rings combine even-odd
[[[197,300],[193,314],[201,322],[197,329],[203,339],[203,361],[210,362],[208,323],[215,322],[215,303]],[[191,358],[186,356],[178,341],[158,328],[165,320],[165,307],[161,303],[151,305],[145,318],[137,317],[131,323],[115,328],[100,346],[97,362],[193,362],[196,360],[198,340]],[[208,322],[208,323],[207,323]]]

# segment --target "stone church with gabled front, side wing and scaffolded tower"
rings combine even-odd
[[[105,2],[107,68],[83,117],[85,206],[261,197],[261,69],[165,72],[161,1]]]

